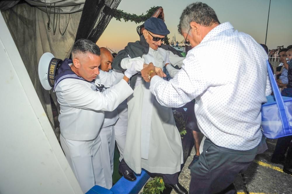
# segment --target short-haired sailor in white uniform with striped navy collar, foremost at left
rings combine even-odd
[[[113,87],[100,92],[93,80],[99,74],[100,49],[92,41],[79,39],[72,48],[72,60],[65,59],[55,76],[54,91],[60,104],[60,142],[81,189],[86,193],[100,181],[104,111],[113,111],[133,90],[125,76]]]

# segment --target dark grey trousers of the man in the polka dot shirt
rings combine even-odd
[[[192,165],[189,194],[236,194],[233,182],[246,171],[258,150],[258,146],[248,151],[227,149],[205,139],[199,161]]]

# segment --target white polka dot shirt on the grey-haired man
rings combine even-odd
[[[267,54],[229,22],[213,28],[190,50],[170,81],[154,76],[150,90],[163,106],[196,100],[201,132],[217,146],[249,150],[261,140],[262,103],[271,93]]]

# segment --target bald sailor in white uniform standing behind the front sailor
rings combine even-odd
[[[124,77],[124,74],[119,71],[112,71],[111,70],[111,64],[113,60],[112,53],[104,47],[100,48],[100,74],[95,78],[95,85],[100,89],[100,91],[105,92],[107,88],[110,88],[112,85],[115,85],[121,81],[121,79]],[[105,79],[105,77],[109,79]],[[125,102],[126,100],[124,100]],[[121,104],[123,104],[122,102]],[[119,106],[121,106],[121,104]],[[121,142],[120,135],[121,132],[119,131],[119,120],[123,119],[123,116],[121,119],[119,118],[118,114],[118,108],[113,111],[105,111],[104,120],[102,123],[102,126],[100,128],[100,132],[98,134],[99,138],[101,139],[101,163],[100,165],[102,168],[100,168],[100,173],[98,180],[95,179],[98,185],[103,186],[105,188],[111,188],[112,187],[112,174],[113,174],[113,167],[114,167],[114,146],[115,146],[115,140],[117,142]],[[127,120],[127,116],[126,116]],[[116,124],[117,127],[116,127]],[[115,135],[117,132],[117,136]],[[126,141],[126,134],[124,135],[124,141]],[[123,138],[123,137],[122,137]],[[123,139],[122,139],[123,140]],[[120,144],[117,143],[119,150]],[[125,143],[124,143],[125,144]],[[124,149],[124,147],[122,147]]]

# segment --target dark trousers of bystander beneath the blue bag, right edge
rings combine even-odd
[[[272,161],[275,161],[277,163],[284,162],[285,153],[290,145],[291,140],[292,136],[280,137],[277,140],[277,144],[271,159]]]

